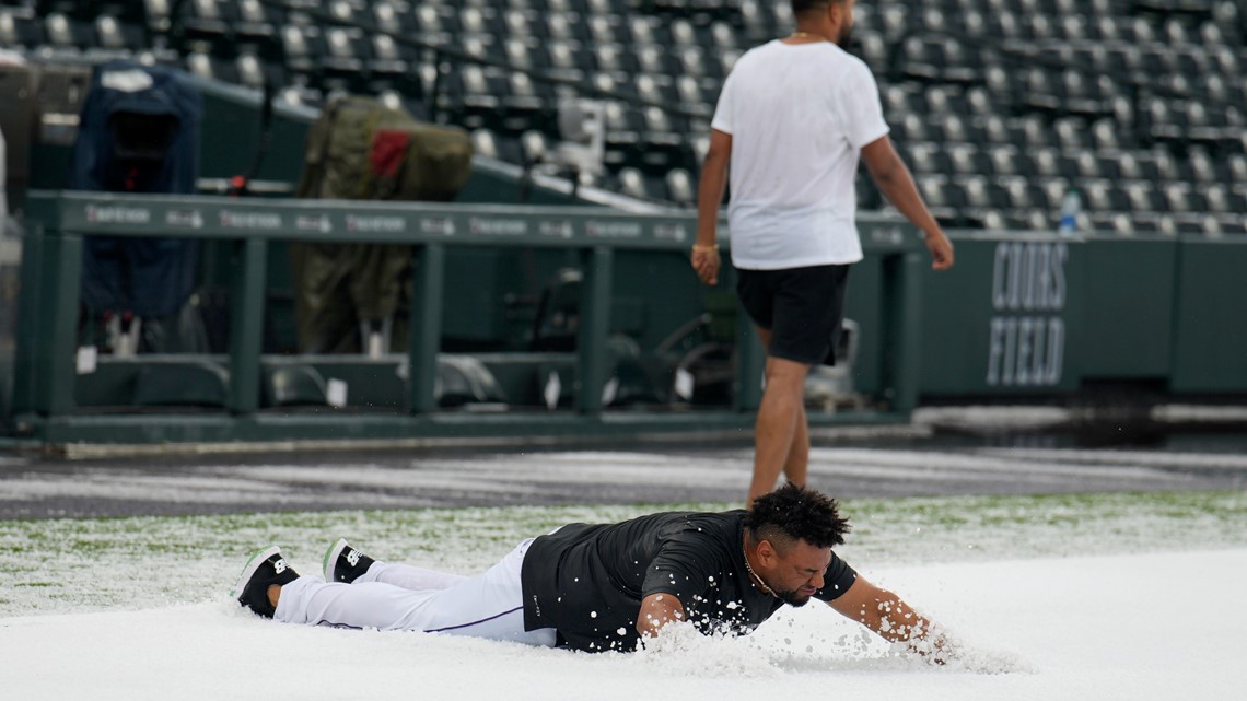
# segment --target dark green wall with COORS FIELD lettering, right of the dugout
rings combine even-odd
[[[923,276],[924,400],[1247,397],[1247,241],[966,234]]]

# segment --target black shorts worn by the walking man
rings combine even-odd
[[[736,272],[741,304],[754,324],[771,332],[768,355],[835,364],[849,266]]]

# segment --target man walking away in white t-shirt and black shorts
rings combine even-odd
[[[691,262],[703,282],[717,283],[716,225],[731,163],[737,292],[767,350],[748,503],[771,491],[781,471],[806,483],[806,374],[834,358],[848,266],[862,259],[859,158],[923,231],[933,268],[953,266],[951,243],[888,138],[870,70],[842,49],[855,1],[792,0],[797,31],[741,56],[711,122]]]

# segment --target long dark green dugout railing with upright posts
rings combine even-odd
[[[402,442],[428,438],[550,435],[636,435],[671,432],[747,432],[761,399],[763,353],[747,323],[736,323],[734,392],[718,407],[612,409],[602,388],[616,254],[683,254],[696,222],[681,215],[626,215],[589,207],[511,207],[461,205],[383,205],[286,200],[229,200],[185,196],[118,196],[34,192],[30,231],[24,242],[12,415],[15,438],[32,445],[272,442]],[[367,223],[367,226],[363,226]],[[314,226],[313,226],[314,225]],[[920,277],[925,249],[913,230],[893,220],[862,222],[868,258],[880,283],[862,286],[882,328],[873,348],[884,378],[879,402],[862,410],[812,414],[812,422],[894,423],[908,420],[917,402],[922,316]],[[80,405],[76,385],[84,368],[77,357],[79,291],[82,242],[90,236],[195,237],[228,242],[229,333],[224,357],[186,358],[224,369],[222,405]],[[400,243],[413,247],[408,372],[402,407],[388,412],[292,412],[263,407],[262,353],[269,243],[277,241]],[[555,410],[470,412],[438,405],[438,357],[444,314],[446,251],[488,247],[574,251],[585,274],[577,343],[574,350],[574,405]],[[692,274],[691,272],[688,273]],[[662,284],[638,279],[637,286]],[[501,299],[498,303],[503,303]],[[137,355],[131,365],[167,358]],[[355,362],[367,363],[363,357]],[[101,365],[113,362],[101,357]],[[120,362],[120,360],[118,360]],[[202,364],[202,363],[201,363]],[[92,370],[94,372],[94,370]],[[176,377],[176,375],[175,375]],[[747,435],[747,433],[744,433]]]

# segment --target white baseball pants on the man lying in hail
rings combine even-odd
[[[476,576],[375,563],[352,584],[301,576],[282,587],[274,619],[288,624],[418,630],[554,647],[555,630],[524,630],[520,566],[532,539]]]

